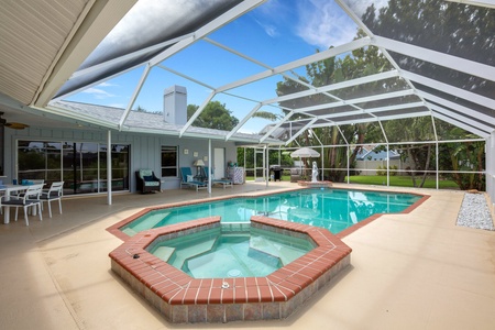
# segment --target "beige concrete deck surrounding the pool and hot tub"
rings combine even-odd
[[[381,187],[336,185],[343,188]],[[295,188],[271,183],[270,190]],[[106,229],[151,205],[208,198],[169,190],[67,198],[63,215],[0,224],[2,329],[492,329],[495,232],[455,226],[463,191],[389,188],[431,197],[343,239],[351,266],[282,321],[172,324],[110,271],[122,241]],[[266,193],[263,183],[212,196]],[[46,210],[45,210],[46,212]],[[46,212],[47,213],[47,212]]]

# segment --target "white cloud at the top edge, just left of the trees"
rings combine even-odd
[[[327,50],[351,42],[356,34],[356,24],[333,1],[301,1],[297,10],[296,33],[308,44]]]

